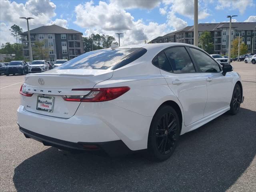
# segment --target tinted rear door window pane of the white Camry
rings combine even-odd
[[[174,73],[195,73],[196,70],[188,52],[184,47],[164,50]]]

